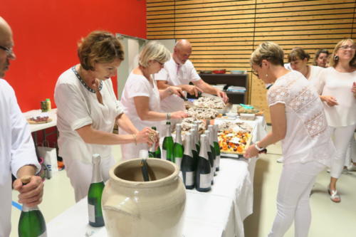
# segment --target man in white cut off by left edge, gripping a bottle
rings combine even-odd
[[[0,236],[11,231],[11,172],[17,178],[14,189],[20,192],[19,203],[36,206],[42,200],[43,183],[34,176],[41,169],[28,124],[17,104],[14,90],[4,78],[9,70],[14,41],[8,23],[0,16]],[[21,177],[31,181],[23,186]]]

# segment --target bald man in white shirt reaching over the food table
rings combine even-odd
[[[191,95],[197,96],[200,91],[217,95],[224,102],[227,102],[226,93],[213,88],[199,77],[193,63],[189,60],[191,54],[192,45],[189,41],[185,39],[177,41],[171,59],[164,63],[164,68],[159,73],[154,75],[158,88],[165,89],[169,85],[175,85]],[[189,83],[193,83],[194,85],[189,85]],[[184,101],[177,95],[172,95],[161,100],[161,110],[164,112],[174,112],[184,109]]]

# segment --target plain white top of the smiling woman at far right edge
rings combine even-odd
[[[325,68],[315,82],[319,95],[331,95],[339,105],[324,103],[328,125],[345,127],[356,123],[356,98],[353,96],[352,83],[356,82],[356,70],[353,73],[340,73],[335,68]]]

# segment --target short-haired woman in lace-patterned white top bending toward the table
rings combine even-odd
[[[248,147],[244,156],[255,157],[264,147],[282,140],[284,157],[277,215],[268,236],[283,236],[294,221],[295,236],[306,237],[310,190],[335,151],[323,105],[301,73],[283,67],[283,50],[276,43],[258,46],[251,66],[264,83],[273,83],[267,92],[272,132]]]

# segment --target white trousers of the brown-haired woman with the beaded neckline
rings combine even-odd
[[[88,195],[91,177],[93,175],[93,165],[68,157],[63,157],[63,161],[67,176],[70,179],[70,184],[72,184],[74,188],[75,201],[78,202]],[[100,167],[104,181],[109,179],[109,170],[114,164],[115,160],[111,156],[106,159],[101,159]]]

